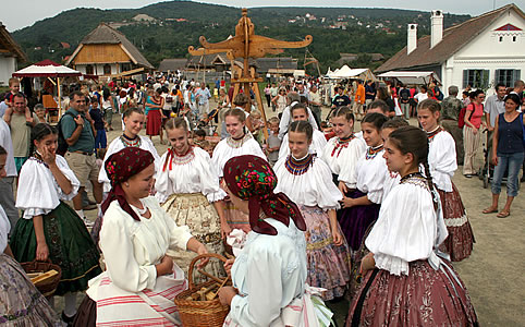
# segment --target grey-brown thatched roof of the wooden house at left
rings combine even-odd
[[[141,66],[154,69],[149,61],[138,51],[138,49],[124,36],[124,34],[119,31],[111,28],[105,23],[100,23],[91,33],[86,35],[81,41],[81,45],[76,48],[75,52],[70,57],[68,62],[69,65],[76,55],[81,51],[84,45],[121,45],[122,49],[130,57],[130,60]]]

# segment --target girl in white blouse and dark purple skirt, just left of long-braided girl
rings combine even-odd
[[[363,240],[367,230],[374,225],[379,215],[382,201],[387,164],[382,157],[383,141],[380,134],[387,117],[382,113],[368,113],[361,123],[363,138],[368,145],[356,165],[356,187],[343,197],[339,222],[352,250],[352,279],[350,295],[352,296],[359,283],[361,259],[366,252],[363,250]]]

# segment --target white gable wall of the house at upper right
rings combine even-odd
[[[495,29],[512,24],[521,32],[495,32]],[[503,36],[500,41],[499,37]],[[513,41],[512,36],[516,36]],[[478,35],[474,40],[457,51],[442,65],[441,76],[443,90],[450,85],[456,85],[460,90],[463,88],[463,70],[489,70],[489,82],[493,86],[496,83],[496,70],[513,69],[521,70],[521,78],[525,78],[525,20],[514,11],[504,14],[487,29]],[[487,94],[493,94],[491,87]]]

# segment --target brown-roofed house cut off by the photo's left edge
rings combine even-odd
[[[11,75],[19,69],[19,63],[25,61],[27,56],[0,23],[0,86],[7,86]]]

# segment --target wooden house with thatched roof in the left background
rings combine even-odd
[[[123,76],[154,69],[124,34],[105,23],[84,37],[65,64],[83,74],[99,76]]]

